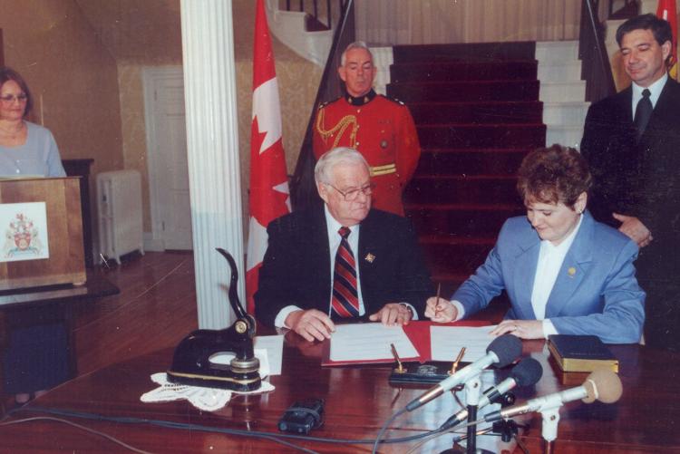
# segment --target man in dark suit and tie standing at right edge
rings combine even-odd
[[[680,349],[680,84],[668,77],[670,25],[654,14],[617,30],[626,90],[590,106],[581,141],[595,179],[590,208],[641,247],[646,343]]]

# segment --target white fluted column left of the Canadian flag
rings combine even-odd
[[[224,328],[229,273],[215,247],[234,256],[245,304],[231,1],[182,0],[181,24],[199,326]]]

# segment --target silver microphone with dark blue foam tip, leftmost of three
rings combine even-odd
[[[486,349],[486,354],[479,360],[468,364],[460,371],[454,373],[439,384],[434,385],[430,391],[406,405],[407,411],[413,411],[425,403],[441,396],[446,391],[451,391],[461,383],[467,382],[482,370],[493,364],[496,367],[505,367],[515,361],[522,352],[522,343],[519,338],[512,334],[503,334],[494,339]]]

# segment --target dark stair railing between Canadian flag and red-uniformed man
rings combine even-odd
[[[290,180],[290,196],[293,209],[304,209],[320,203],[320,198],[316,192],[314,182],[314,166],[316,159],[312,150],[312,137],[314,131],[314,120],[316,109],[326,101],[332,101],[342,96],[343,83],[337,73],[340,65],[340,56],[347,44],[355,41],[355,7],[353,0],[340,0],[340,11],[342,14],[338,21],[333,43],[331,44],[328,59],[325,62],[324,73],[316,92],[316,99],[312,106],[312,112],[307,121],[305,139],[300,147],[300,154],[297,157],[296,169]]]

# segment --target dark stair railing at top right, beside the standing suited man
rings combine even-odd
[[[616,92],[605,47],[605,29],[597,17],[598,0],[583,0],[578,38],[581,79],[586,81],[586,101],[599,101]]]

